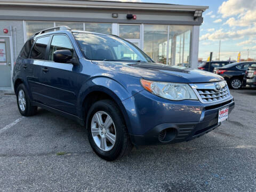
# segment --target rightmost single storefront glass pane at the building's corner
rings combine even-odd
[[[169,65],[189,67],[192,26],[171,25],[169,28]]]

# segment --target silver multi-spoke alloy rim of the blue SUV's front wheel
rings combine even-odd
[[[103,151],[111,150],[116,142],[116,128],[111,117],[98,111],[92,117],[91,132],[95,144]]]

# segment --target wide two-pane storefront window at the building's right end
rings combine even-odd
[[[145,25],[144,51],[156,62],[189,67],[192,29],[183,25]]]

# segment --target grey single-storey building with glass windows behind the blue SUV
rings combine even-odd
[[[39,30],[60,25],[118,35],[156,62],[196,68],[199,26],[207,8],[107,1],[1,0],[0,89],[11,89],[14,61],[26,40]]]

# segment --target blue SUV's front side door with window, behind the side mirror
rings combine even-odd
[[[57,50],[70,50],[76,57],[73,45],[65,34],[52,36],[47,61],[41,69],[40,82],[43,85],[43,103],[61,111],[76,115],[77,92],[81,87],[79,72],[81,66],[53,61]]]

